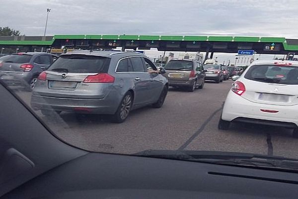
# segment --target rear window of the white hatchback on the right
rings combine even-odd
[[[254,65],[248,69],[244,78],[265,83],[298,85],[298,67]]]

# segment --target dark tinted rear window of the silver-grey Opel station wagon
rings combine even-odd
[[[110,58],[89,55],[62,55],[49,68],[49,71],[63,73],[106,73]]]

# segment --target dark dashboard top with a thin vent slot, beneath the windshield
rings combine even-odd
[[[298,174],[207,163],[88,153],[4,199],[295,198]]]

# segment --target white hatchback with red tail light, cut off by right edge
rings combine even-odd
[[[293,128],[298,137],[297,61],[255,61],[233,80],[219,129],[239,121]]]

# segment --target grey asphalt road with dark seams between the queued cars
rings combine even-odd
[[[36,113],[66,142],[90,151],[136,153],[148,149],[213,150],[298,158],[298,139],[292,130],[252,124],[217,125],[231,80],[208,82],[193,93],[171,88],[161,108],[144,107],[130,113],[121,124],[105,116],[77,118],[63,112],[48,120]],[[30,93],[18,92],[26,102]]]

